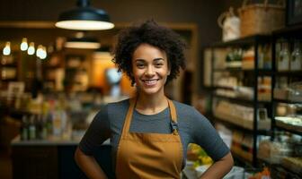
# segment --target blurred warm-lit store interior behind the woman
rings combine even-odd
[[[301,178],[302,2],[293,7],[289,1],[264,2],[281,12],[272,13],[281,17],[280,27],[257,31],[246,25],[241,36],[229,39],[218,17],[231,6],[239,16],[243,1],[91,1],[115,25],[91,31],[55,27],[58,14],[75,0],[0,2],[0,178],[84,177],[73,154],[93,116],[105,104],[135,93],[111,62],[117,34],[150,18],[188,45],[187,68],[165,94],[196,107],[216,127],[235,159],[226,178]],[[248,5],[262,11],[263,2]],[[250,21],[265,19],[259,12],[249,15]],[[240,18],[247,21],[243,14]],[[100,47],[67,47],[79,37],[93,38]],[[22,41],[46,56],[22,51]],[[97,154],[105,168],[111,165],[104,155],[108,150],[107,143]],[[198,178],[212,163],[196,145],[189,147],[187,159],[182,178]]]

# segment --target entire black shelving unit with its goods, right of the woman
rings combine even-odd
[[[211,66],[209,119],[232,130],[235,161],[270,166],[272,178],[302,174],[301,30],[216,43],[204,55]]]

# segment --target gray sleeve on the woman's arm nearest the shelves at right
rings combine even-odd
[[[200,145],[214,161],[225,157],[229,149],[209,120],[200,115],[195,108],[193,108],[192,117],[194,121],[191,129],[194,143]]]

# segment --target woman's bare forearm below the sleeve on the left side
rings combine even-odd
[[[76,148],[75,160],[77,166],[79,166],[84,174],[91,179],[107,179],[107,176],[102,171],[101,166],[95,161],[93,156],[87,156],[84,152]]]

